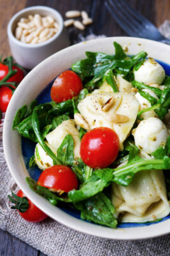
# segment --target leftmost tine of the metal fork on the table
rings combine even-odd
[[[136,36],[136,33],[134,32],[134,28],[130,28],[129,24],[127,25],[127,19],[125,19],[125,17],[122,15],[120,10],[117,9],[117,6],[115,6],[115,4],[113,4],[110,0],[107,0],[105,2],[105,5],[110,11],[113,18],[118,22],[120,27],[124,29],[127,32],[127,34],[129,34],[130,36]]]

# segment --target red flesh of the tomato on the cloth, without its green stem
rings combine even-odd
[[[19,190],[17,193],[17,196],[22,198],[25,196],[25,194],[21,190]],[[25,212],[18,211],[20,216],[22,216],[24,220],[31,221],[31,222],[39,222],[39,221],[45,220],[48,217],[44,212],[39,210],[38,207],[36,207],[36,205],[34,205],[29,200],[29,198],[27,198],[27,200],[29,201],[29,208],[27,209],[27,211]]]

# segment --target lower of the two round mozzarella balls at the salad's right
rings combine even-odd
[[[166,145],[168,131],[166,125],[156,117],[140,122],[132,131],[135,145],[146,154],[152,154],[157,148]]]

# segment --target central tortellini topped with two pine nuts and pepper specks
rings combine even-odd
[[[111,97],[114,97],[115,103],[108,111],[102,111],[101,107]],[[95,90],[92,94],[87,95],[78,104],[78,110],[89,124],[90,129],[104,126],[117,133],[120,150],[123,149],[123,142],[134,125],[138,109],[139,102],[131,93],[100,92],[100,90]],[[129,120],[117,124],[112,120],[114,114],[125,115]]]

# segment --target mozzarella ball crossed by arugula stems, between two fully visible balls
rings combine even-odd
[[[149,93],[152,97],[158,100],[157,95],[152,90],[144,89],[143,91]],[[139,92],[136,93],[135,97],[139,102],[139,111],[151,107],[150,102],[146,100],[144,97],[142,97]],[[141,115],[141,118],[146,119],[152,116],[156,116],[154,110],[150,110],[150,111],[147,111],[146,113],[143,113]]]

